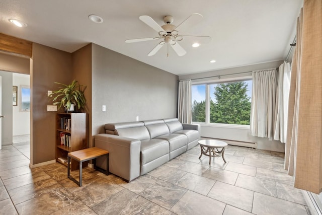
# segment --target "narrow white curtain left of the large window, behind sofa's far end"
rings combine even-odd
[[[179,82],[178,119],[182,123],[191,123],[191,80]]]

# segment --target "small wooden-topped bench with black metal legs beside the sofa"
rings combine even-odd
[[[107,170],[104,170],[102,168],[99,168],[96,166],[96,159],[101,157],[101,156],[106,156],[106,166]],[[70,176],[70,159],[74,159],[79,162],[79,182],[76,181],[73,177]],[[79,187],[82,186],[82,167],[83,167],[83,162],[84,161],[89,161],[92,160],[94,162],[94,169],[108,175],[109,174],[109,151],[102,150],[96,147],[89,148],[89,149],[84,149],[84,150],[78,150],[74,152],[70,152],[67,155],[67,177],[75,182],[76,184],[79,185]]]

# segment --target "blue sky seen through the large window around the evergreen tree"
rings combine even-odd
[[[248,83],[247,87],[247,95],[249,97],[252,97],[252,80],[245,81]],[[210,85],[210,97],[213,100],[214,99],[214,85]],[[192,85],[191,86],[191,101],[193,102],[196,100],[197,102],[204,101],[206,99],[206,85]]]

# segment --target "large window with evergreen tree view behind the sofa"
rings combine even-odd
[[[192,85],[191,92],[193,122],[250,124],[252,80]]]

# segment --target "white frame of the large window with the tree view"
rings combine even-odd
[[[226,127],[226,128],[238,128],[238,129],[249,129],[250,125],[238,125],[238,124],[224,124],[224,123],[211,123],[210,122],[210,85],[213,84],[222,84],[222,83],[231,83],[231,82],[241,82],[241,81],[250,81],[252,80],[252,75],[246,75],[241,77],[233,77],[233,78],[225,78],[221,79],[218,76],[217,80],[206,80],[206,81],[193,81],[191,86],[193,85],[206,85],[206,110],[205,110],[205,122],[194,122],[195,124],[206,125],[208,127]],[[253,84],[253,83],[252,83]],[[253,92],[252,92],[253,94]],[[192,98],[191,98],[192,101]]]

